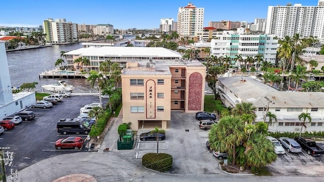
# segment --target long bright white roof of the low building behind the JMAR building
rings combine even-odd
[[[157,57],[182,58],[180,53],[165,48],[148,47],[90,47],[80,48],[64,55],[102,56],[102,57]]]

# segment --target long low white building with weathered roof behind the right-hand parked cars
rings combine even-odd
[[[302,121],[298,115],[303,112],[310,113],[312,118],[311,123],[306,123],[306,131],[324,130],[322,92],[280,92],[252,77],[219,77],[218,80],[218,90],[225,107],[251,102],[257,108],[256,122],[264,121],[267,111],[275,114],[277,122],[272,120],[269,131],[300,132]]]

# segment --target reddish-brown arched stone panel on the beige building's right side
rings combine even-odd
[[[201,110],[201,93],[203,92],[203,75],[198,72],[191,73],[189,76],[189,97],[188,110]]]

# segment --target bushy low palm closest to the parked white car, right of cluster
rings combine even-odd
[[[254,134],[247,143],[246,161],[248,166],[261,168],[277,159],[270,140],[262,134]]]

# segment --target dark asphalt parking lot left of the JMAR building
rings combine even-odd
[[[104,106],[107,101],[103,100]],[[81,107],[93,102],[99,102],[99,97],[72,95],[49,109],[28,108],[36,117],[0,135],[1,147],[10,147],[9,151],[15,153],[14,165],[18,170],[51,156],[88,151],[85,148],[87,142],[81,150],[56,150],[55,142],[68,136],[58,133],[56,124],[61,118],[77,117]],[[87,138],[87,135],[78,136]]]

